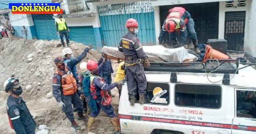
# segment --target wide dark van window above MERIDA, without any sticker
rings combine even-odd
[[[202,108],[220,108],[221,87],[214,85],[176,84],[175,104]]]

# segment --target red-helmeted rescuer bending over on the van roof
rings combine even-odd
[[[200,52],[197,47],[198,40],[196,36],[196,30],[194,28],[195,23],[194,20],[191,18],[190,13],[182,7],[171,8],[168,12],[169,14],[164,20],[164,24],[158,37],[159,44],[164,43],[164,37],[169,38],[168,33],[170,33],[170,38],[172,40],[172,43],[174,44],[174,47],[178,47],[179,44],[177,40],[177,32],[180,32],[181,46],[188,48],[188,46],[185,45],[188,30],[188,34],[190,36],[190,39],[192,40],[194,49],[196,50],[196,52]]]

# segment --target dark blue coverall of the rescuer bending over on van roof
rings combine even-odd
[[[190,39],[193,42],[197,41],[196,30],[194,28],[195,23],[194,23],[194,20],[191,18],[190,13],[188,11],[185,11],[181,17],[182,20],[185,20],[186,18],[188,18],[188,23],[186,24],[186,29],[185,29],[185,31],[180,32],[181,44],[185,44],[185,42],[187,40],[187,30],[188,30]],[[169,33],[165,30],[165,20],[164,20],[164,24],[161,28],[161,31],[160,31],[160,34],[158,37],[159,44],[163,44],[164,42],[169,44],[169,41],[168,41],[169,38],[171,40],[176,40],[177,32],[174,31],[174,32],[170,33],[170,35],[169,35]]]

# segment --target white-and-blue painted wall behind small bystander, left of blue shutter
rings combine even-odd
[[[31,14],[12,14],[9,13],[9,18],[11,25],[15,30],[15,36],[24,38],[25,35],[22,34],[22,26],[25,26],[28,30],[28,39],[37,38],[36,28],[32,20]]]

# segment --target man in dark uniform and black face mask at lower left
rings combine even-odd
[[[5,92],[10,94],[7,99],[7,114],[12,129],[16,134],[35,134],[36,122],[30,114],[26,102],[20,97],[22,87],[19,80],[11,78],[6,84]]]

